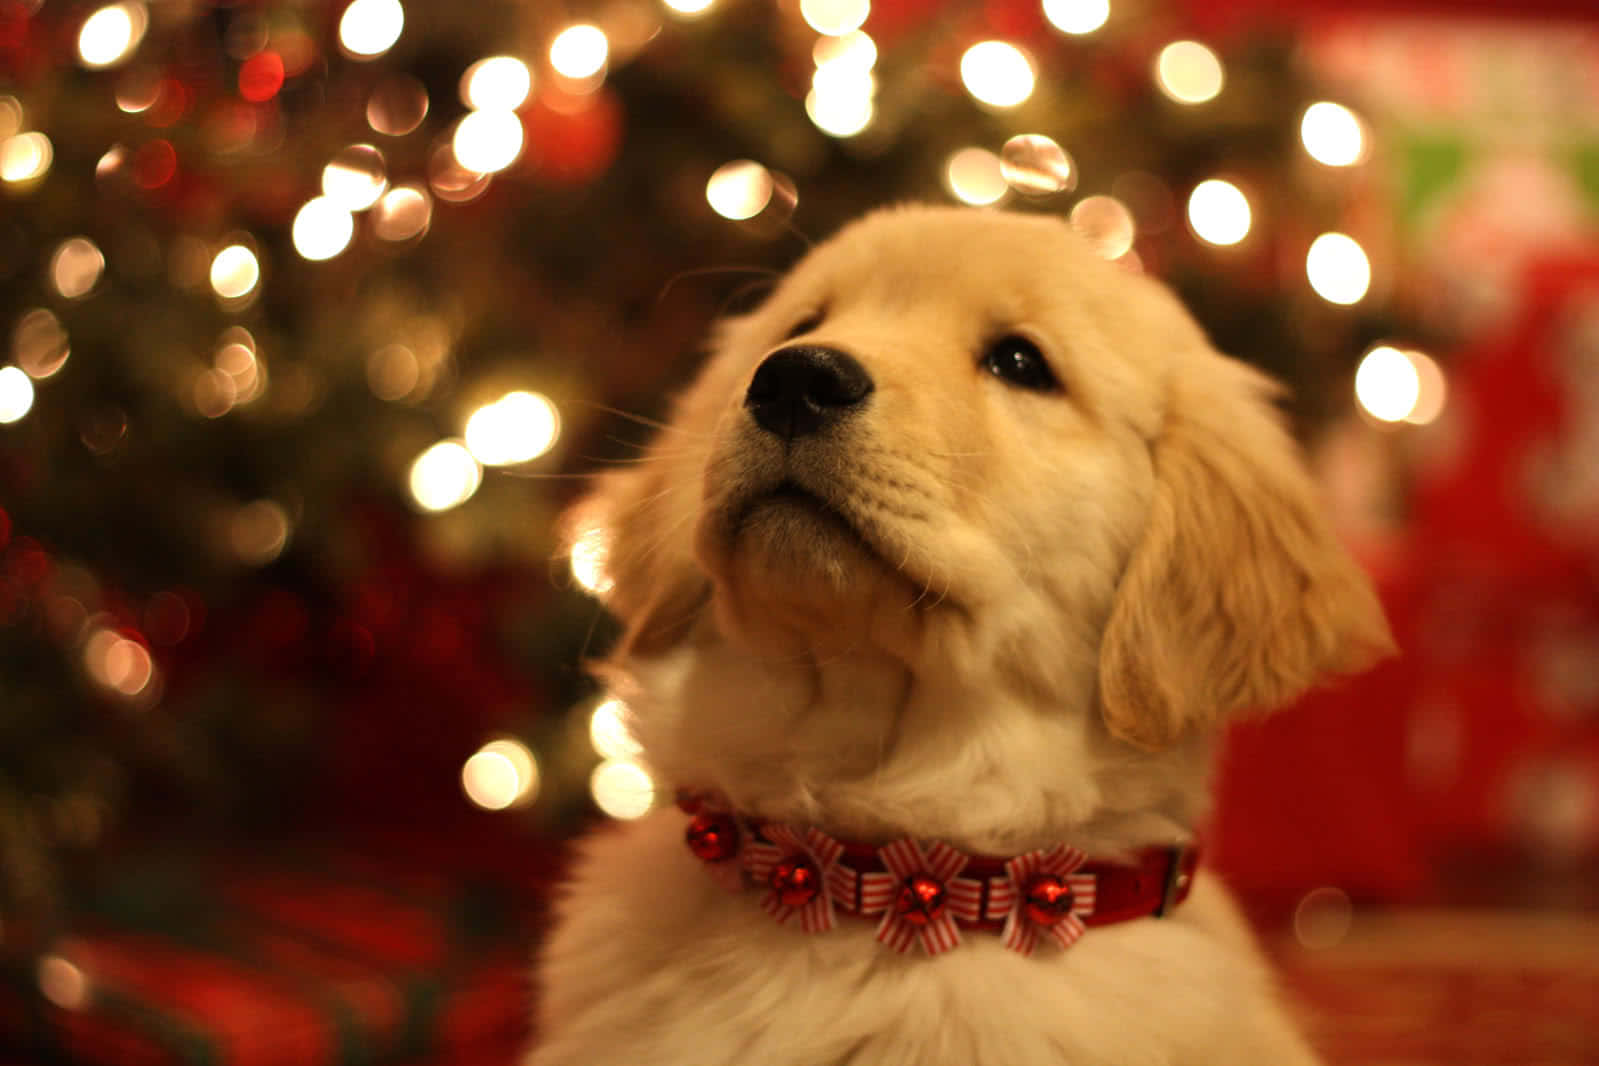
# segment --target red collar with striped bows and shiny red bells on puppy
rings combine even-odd
[[[689,850],[731,890],[766,889],[761,908],[798,916],[809,933],[838,913],[878,922],[878,941],[903,953],[950,951],[961,930],[999,933],[1031,954],[1039,938],[1070,948],[1089,927],[1162,917],[1188,898],[1199,850],[1148,847],[1127,861],[1091,861],[1067,844],[1023,855],[966,855],[942,841],[836,841],[815,828],[748,818],[681,793]]]

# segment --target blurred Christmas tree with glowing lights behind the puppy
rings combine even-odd
[[[1396,331],[1348,238],[1306,281],[1366,144],[1292,42],[1156,0],[689,6],[0,3],[0,901],[130,825],[489,817],[475,751],[480,804],[529,798],[500,734],[569,820],[604,634],[555,518],[753,299],[723,268],[801,230],[1065,214],[1306,432]]]

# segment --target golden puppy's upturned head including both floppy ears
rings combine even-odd
[[[600,503],[624,660],[870,652],[1161,746],[1388,641],[1265,384],[1055,219],[849,227]]]

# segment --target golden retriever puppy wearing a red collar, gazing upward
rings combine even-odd
[[[1289,1066],[1210,750],[1390,649],[1255,371],[1059,219],[881,211],[588,507],[683,809],[587,841],[529,1066]]]

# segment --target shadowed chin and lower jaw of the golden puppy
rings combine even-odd
[[[910,657],[921,638],[916,585],[804,492],[779,489],[707,513],[696,542],[718,623],[758,650]]]

